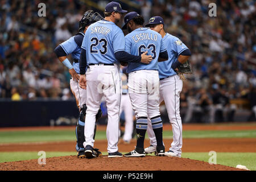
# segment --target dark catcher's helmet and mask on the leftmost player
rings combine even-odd
[[[89,26],[101,19],[104,18],[98,12],[94,12],[93,10],[86,11],[79,22],[79,32],[83,31],[86,26]]]

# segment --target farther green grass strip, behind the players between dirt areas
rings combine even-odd
[[[171,131],[163,131],[164,138],[172,138]],[[147,134],[146,134],[146,138]],[[243,131],[183,131],[183,138],[256,138],[256,130]],[[106,131],[97,131],[96,140],[106,139]],[[52,142],[76,140],[75,131],[1,131],[0,143]]]

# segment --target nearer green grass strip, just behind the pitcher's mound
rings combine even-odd
[[[127,151],[126,151],[127,152]],[[126,152],[122,152],[125,154]],[[102,152],[103,155],[108,155],[108,152]],[[76,152],[46,152],[46,158],[53,156],[76,155]],[[208,162],[210,156],[208,152],[183,152],[182,158],[189,158]],[[38,159],[38,152],[0,152],[0,163],[13,162],[19,160]],[[217,164],[224,166],[236,167],[238,164],[246,166],[251,171],[256,170],[256,153],[251,152],[217,152]],[[47,159],[46,159],[47,163]]]

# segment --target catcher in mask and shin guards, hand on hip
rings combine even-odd
[[[82,145],[85,141],[84,138],[84,126],[85,126],[85,114],[86,114],[86,90],[81,89],[79,87],[78,81],[79,81],[79,59],[80,59],[80,53],[81,53],[81,44],[82,39],[84,39],[84,33],[88,26],[94,22],[97,22],[97,20],[101,20],[103,17],[98,14],[97,12],[94,12],[93,10],[86,11],[84,13],[84,16],[80,20],[79,24],[79,33],[77,33],[75,36],[72,36],[65,42],[61,43],[59,46],[55,48],[55,53],[57,57],[59,58],[60,62],[63,63],[69,70],[69,73],[71,75],[70,80],[70,88],[73,93],[73,95],[76,98],[76,104],[77,107],[79,107],[80,115],[79,115],[79,121],[77,122],[76,126],[76,151],[77,151],[77,158],[85,158],[85,152],[84,152],[84,146]],[[71,54],[73,57],[73,65],[69,62],[67,55]],[[101,117],[101,109],[98,110],[96,121]],[[94,131],[94,137],[96,134],[96,130]],[[101,152],[98,151],[97,148],[93,149],[96,156],[101,155]]]

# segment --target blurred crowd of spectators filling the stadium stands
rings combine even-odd
[[[97,2],[100,6],[105,1]],[[191,122],[194,112],[208,113],[214,122],[217,110],[227,113],[218,120],[232,121],[236,105],[230,100],[255,98],[255,1],[134,2],[146,21],[162,16],[166,31],[192,52],[193,74],[185,76],[180,96],[181,115],[187,113],[184,122]],[[211,2],[217,5],[216,17],[208,15]],[[82,14],[90,7],[83,1],[48,0],[46,17],[39,17],[38,3],[0,0],[0,98],[73,99],[68,69],[53,49],[77,33]],[[250,99],[252,110],[254,100]]]

